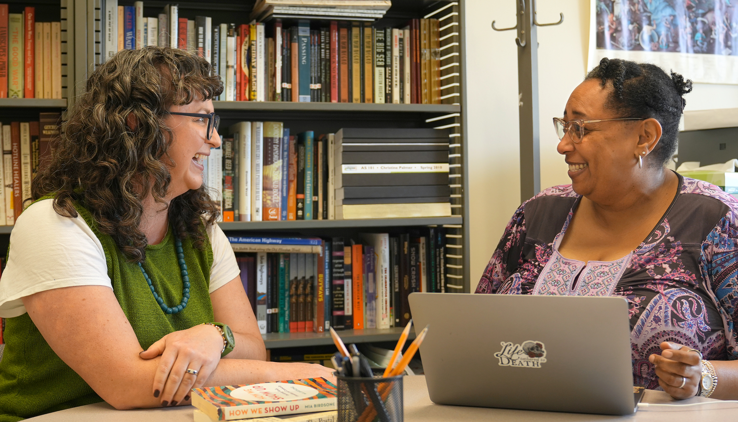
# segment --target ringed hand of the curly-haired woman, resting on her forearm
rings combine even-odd
[[[144,359],[162,355],[154,375],[154,397],[162,406],[176,406],[190,399],[190,389],[202,387],[218,366],[223,336],[213,325],[200,324],[175,331],[139,353]],[[186,372],[198,371],[197,375]]]

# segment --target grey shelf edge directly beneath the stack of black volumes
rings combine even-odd
[[[224,231],[303,230],[309,228],[402,227],[413,225],[462,224],[463,217],[415,217],[384,219],[313,219],[297,221],[219,222]]]

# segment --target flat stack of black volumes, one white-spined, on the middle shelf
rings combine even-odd
[[[447,129],[341,129],[336,219],[448,217]]]

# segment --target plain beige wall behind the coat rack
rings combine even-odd
[[[541,186],[569,183],[551,118],[584,78],[590,0],[539,0],[538,20],[565,21],[538,29]],[[517,45],[514,0],[466,0],[466,116],[469,142],[469,257],[475,289],[508,219],[520,205]],[[687,75],[689,77],[689,75]],[[695,84],[686,109],[738,107],[738,86]]]

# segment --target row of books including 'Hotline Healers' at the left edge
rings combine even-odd
[[[59,113],[39,113],[38,121],[0,125],[0,225],[15,224],[24,200],[31,197],[31,180],[51,154],[60,120]]]

